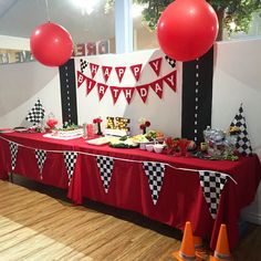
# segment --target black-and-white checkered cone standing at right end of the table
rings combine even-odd
[[[234,116],[232,123],[230,124],[230,127],[239,127],[240,134],[238,136],[238,140],[236,144],[236,147],[238,152],[244,156],[249,156],[252,154],[252,147],[250,144],[248,130],[247,130],[247,123],[243,114],[243,107],[242,104],[240,105],[239,112]]]

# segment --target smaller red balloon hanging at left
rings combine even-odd
[[[72,55],[73,41],[70,33],[56,23],[43,23],[30,38],[31,52],[35,60],[46,66],[60,66]]]

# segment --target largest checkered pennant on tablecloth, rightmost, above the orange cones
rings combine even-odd
[[[216,171],[199,170],[200,185],[208,203],[210,215],[216,219],[219,199],[227,182],[227,176]]]

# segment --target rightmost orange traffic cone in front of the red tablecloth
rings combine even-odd
[[[211,261],[232,260],[229,250],[227,227],[225,223],[222,223],[220,227],[216,250],[213,252],[213,255],[210,255],[210,260]]]

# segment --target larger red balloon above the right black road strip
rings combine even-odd
[[[205,0],[176,0],[158,20],[158,42],[177,61],[195,60],[212,46],[218,27],[216,12]]]

